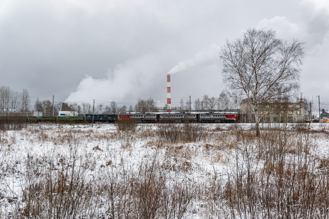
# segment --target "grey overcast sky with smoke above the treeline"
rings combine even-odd
[[[329,108],[327,0],[2,0],[0,86],[33,100],[164,103],[170,72],[173,105],[217,97],[219,48],[249,27],[306,42],[300,92]]]

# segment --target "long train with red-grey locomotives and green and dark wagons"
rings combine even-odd
[[[122,119],[133,119],[137,123],[234,123],[238,122],[237,113],[120,113],[86,114],[85,116],[0,116],[0,120],[20,120],[26,122],[58,123],[115,123]]]

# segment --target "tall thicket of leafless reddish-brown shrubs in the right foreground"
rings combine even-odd
[[[223,189],[232,217],[328,217],[327,164],[315,162],[310,129],[300,127],[288,133],[285,126],[264,129],[257,141],[250,131],[236,133],[234,163],[228,163]]]

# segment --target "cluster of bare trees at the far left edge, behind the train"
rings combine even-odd
[[[22,92],[13,91],[8,86],[0,87],[0,110],[1,115],[9,111],[28,112],[30,110],[31,98],[29,92],[24,88]]]

